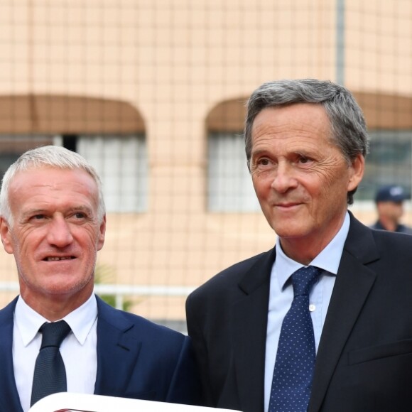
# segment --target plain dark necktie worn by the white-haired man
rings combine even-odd
[[[64,320],[46,322],[39,331],[43,337],[34,368],[31,406],[45,396],[67,391],[60,345],[70,332],[70,326]]]

